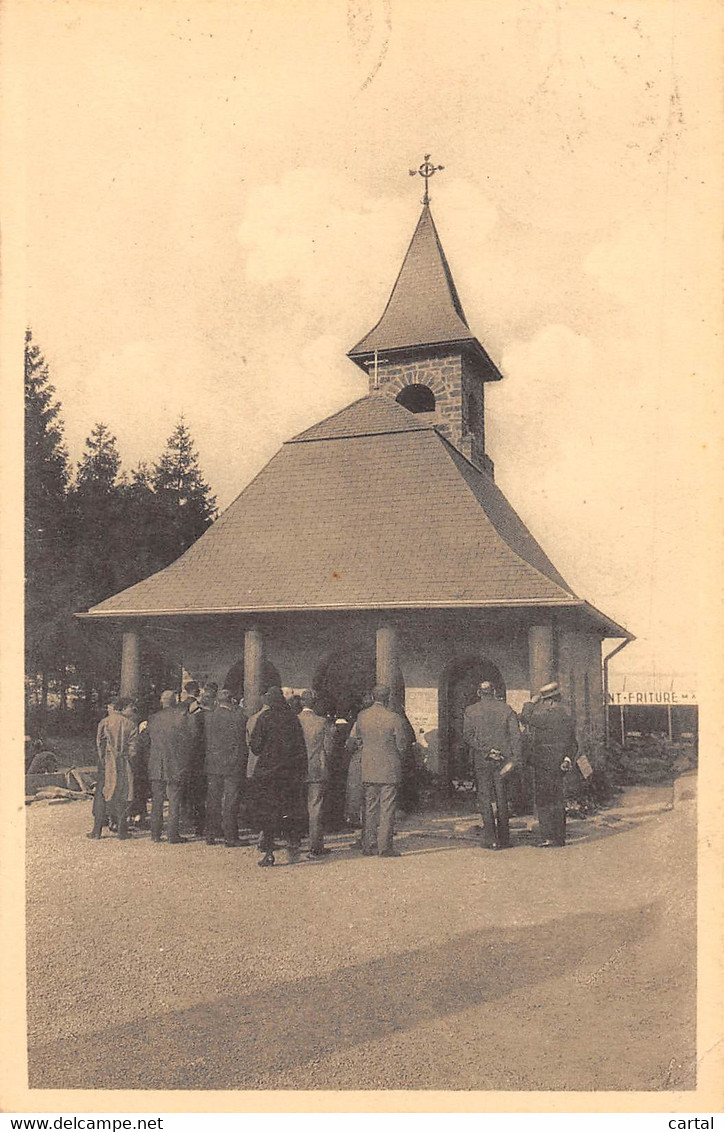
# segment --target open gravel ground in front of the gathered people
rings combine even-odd
[[[31,1086],[691,1088],[695,803],[624,800],[561,850],[432,815],[264,871],[34,805]]]

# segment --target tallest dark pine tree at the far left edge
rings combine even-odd
[[[40,346],[25,333],[25,559],[28,676],[42,674],[43,701],[58,662],[59,624],[69,603],[68,452],[61,404]]]

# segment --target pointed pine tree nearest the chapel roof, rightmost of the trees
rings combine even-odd
[[[166,441],[152,482],[162,524],[160,550],[167,565],[204,533],[216,514],[216,499],[201,474],[183,418]]]

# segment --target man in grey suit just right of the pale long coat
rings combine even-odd
[[[200,714],[200,713],[197,713]],[[161,711],[148,719],[148,777],[150,778],[150,839],[161,841],[163,804],[169,797],[169,843],[181,844],[179,825],[183,786],[195,745],[198,722],[175,692],[162,692]]]

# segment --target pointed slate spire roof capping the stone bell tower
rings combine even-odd
[[[472,348],[486,380],[502,376],[467,325],[430,206],[424,205],[382,317],[348,357],[362,365],[376,350],[448,343]]]

